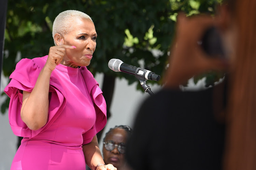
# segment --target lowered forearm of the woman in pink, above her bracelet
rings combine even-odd
[[[93,137],[93,140],[90,143],[83,145],[82,147],[85,162],[90,167],[90,169],[94,170],[96,165],[104,164],[96,135]]]

